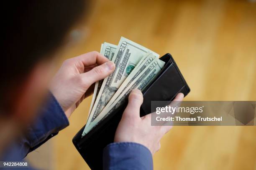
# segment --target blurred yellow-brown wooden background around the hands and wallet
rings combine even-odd
[[[256,100],[256,2],[253,0],[95,0],[59,50],[70,57],[126,37],[171,53],[191,92],[185,100]],[[72,144],[92,96],[68,128],[28,155],[44,169],[90,169]],[[44,155],[43,157],[41,155]],[[40,159],[40,161],[38,161]],[[40,164],[39,164],[40,162]],[[256,170],[256,127],[174,127],[154,155],[156,170]]]

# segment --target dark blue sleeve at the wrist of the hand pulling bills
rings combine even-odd
[[[28,127],[26,135],[20,139],[20,159],[41,146],[47,140],[69,125],[69,121],[55,97],[49,93],[46,105],[41,108],[36,121]]]

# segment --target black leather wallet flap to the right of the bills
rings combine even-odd
[[[184,80],[172,55],[167,53],[160,59],[166,64],[156,80],[143,92],[141,117],[151,113],[151,101],[172,101],[179,92],[182,92],[184,96],[190,92],[187,82]]]

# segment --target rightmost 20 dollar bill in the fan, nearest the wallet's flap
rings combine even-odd
[[[146,63],[147,61],[144,60],[143,63]],[[127,79],[132,80],[131,83],[127,86],[124,83],[124,86],[119,88],[119,90],[116,92],[117,98],[111,99],[113,100],[112,104],[106,105],[106,107],[100,112],[100,114],[93,120],[90,125],[84,130],[84,133],[88,133],[95,125],[97,125],[98,122],[101,120],[104,120],[105,117],[107,117],[109,114],[111,114],[115,109],[117,109],[120,105],[123,104],[125,101],[125,98],[128,97],[131,90],[133,89],[139,89],[143,90],[149,85],[154,78],[158,75],[158,73],[161,71],[161,69],[164,67],[164,62],[159,60],[158,58],[154,58],[151,62],[148,62],[149,64],[143,68],[143,63],[136,69],[137,71],[142,70],[136,78],[133,79],[133,76],[136,75],[137,72],[134,72],[133,75],[129,75]],[[143,68],[143,69],[141,69]],[[122,94],[119,94],[122,93]],[[110,101],[111,102],[111,101]]]

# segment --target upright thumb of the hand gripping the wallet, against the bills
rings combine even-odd
[[[125,111],[123,112],[123,117],[140,117],[140,107],[143,102],[143,95],[141,90],[135,89],[129,95],[129,102]]]

